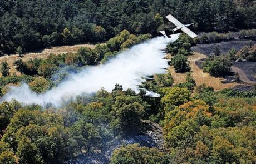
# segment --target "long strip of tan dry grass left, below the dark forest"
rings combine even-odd
[[[58,47],[46,48],[46,49],[43,49],[42,51],[38,51],[38,52],[24,53],[23,57],[19,57],[18,54],[12,54],[12,55],[0,57],[0,63],[3,61],[7,61],[9,67],[11,67],[10,73],[19,75],[19,73],[15,69],[15,66],[13,65],[13,62],[16,61],[17,59],[22,59],[23,61],[28,61],[29,59],[34,59],[34,58],[45,59],[45,58],[47,58],[47,56],[49,56],[49,54],[58,55],[58,54],[63,54],[63,53],[68,53],[68,52],[75,53],[81,47],[89,47],[89,48],[93,49],[96,47],[96,45],[77,44],[74,46],[58,46]],[[1,76],[2,76],[2,74],[1,74]]]

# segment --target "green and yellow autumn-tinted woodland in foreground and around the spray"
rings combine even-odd
[[[95,49],[81,48],[77,53],[27,62],[20,59],[14,63],[21,76],[10,75],[3,62],[1,94],[8,92],[9,83],[22,81],[32,91],[44,93],[63,81],[68,71],[104,63],[123,48],[150,37],[136,37],[124,30]],[[2,102],[0,163],[64,163],[142,132],[145,120],[163,126],[165,151],[124,145],[114,151],[110,163],[255,163],[256,90],[214,91],[205,84],[196,85],[186,61],[193,44],[194,40],[183,34],[167,48],[177,53],[171,64],[184,66],[176,71],[187,72],[186,82],[174,85],[168,72],[155,74],[154,80],[140,86],[160,93],[160,97],[145,96],[145,90],[123,90],[116,84],[112,92],[102,88],[93,96],[77,96],[61,108]],[[245,47],[235,53],[239,58],[255,51]],[[230,57],[232,54],[230,51]],[[56,73],[59,78],[52,78]]]

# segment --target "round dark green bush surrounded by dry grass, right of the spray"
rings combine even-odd
[[[187,72],[190,71],[188,58],[185,57],[183,54],[177,54],[174,56],[174,58],[171,60],[171,63],[173,64],[175,72]]]

